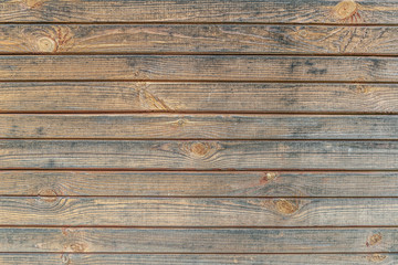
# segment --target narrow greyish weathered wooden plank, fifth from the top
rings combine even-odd
[[[398,116],[12,114],[0,138],[398,139]]]

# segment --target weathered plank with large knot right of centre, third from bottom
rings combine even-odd
[[[398,199],[2,197],[0,214],[0,225],[392,226]]]

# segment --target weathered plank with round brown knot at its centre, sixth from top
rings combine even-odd
[[[0,168],[397,170],[398,141],[1,140]]]

